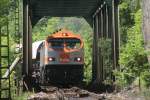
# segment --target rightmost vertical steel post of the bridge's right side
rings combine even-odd
[[[108,36],[112,39],[112,61],[113,69],[118,68],[119,66],[119,31],[118,31],[118,1],[112,0],[111,5],[108,6]],[[115,81],[115,77],[112,76],[112,79]]]

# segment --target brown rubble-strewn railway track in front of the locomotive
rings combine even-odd
[[[104,95],[95,94],[79,87],[58,88],[41,87],[42,91],[28,97],[27,100],[105,100]]]

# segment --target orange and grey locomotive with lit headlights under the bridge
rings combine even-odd
[[[41,85],[81,82],[84,67],[83,46],[80,35],[66,29],[33,43],[33,78]]]

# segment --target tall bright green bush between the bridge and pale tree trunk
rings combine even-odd
[[[143,79],[145,84],[149,84],[149,70],[147,53],[144,49],[143,35],[141,32],[141,9],[134,13],[135,24],[127,30],[127,43],[121,47],[120,70],[115,71],[115,76],[119,85],[130,85],[139,78],[141,85],[141,75],[145,73]],[[144,78],[145,77],[145,78]],[[147,79],[146,79],[147,78]]]

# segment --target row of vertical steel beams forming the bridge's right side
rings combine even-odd
[[[119,67],[118,3],[118,0],[104,1],[93,14],[92,79],[96,83],[103,83],[108,78],[115,81],[112,71]],[[101,46],[103,40],[107,42],[107,39],[111,41],[111,55],[104,55],[104,48]]]

